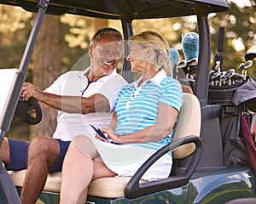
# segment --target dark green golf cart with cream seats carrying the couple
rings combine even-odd
[[[240,138],[241,115],[253,111],[247,107],[253,109],[252,100],[256,97],[254,82],[249,77],[239,82],[233,78],[230,84],[220,85],[214,76],[223,72],[219,69],[220,56],[216,57],[214,77],[209,80],[212,50],[208,14],[228,11],[229,4],[225,0],[0,0],[0,3],[38,13],[19,70],[7,73],[12,83],[3,95],[3,105],[0,104],[1,139],[9,130],[19,105],[20,88],[25,81],[26,67],[44,14],[78,14],[121,20],[125,39],[133,33],[132,20],[196,15],[200,49],[196,77],[193,79],[194,94],[184,94],[172,143],[151,156],[131,178],[94,180],[89,187],[87,202],[225,203],[236,198],[255,197],[255,174],[246,146]],[[127,50],[125,48],[125,54]],[[243,65],[241,69],[245,70],[245,67]],[[130,65],[126,61],[121,73],[128,82],[133,81]],[[241,92],[237,92],[239,88],[247,94],[241,97]],[[148,167],[170,150],[173,151],[170,176],[152,182],[143,181],[142,175]],[[1,203],[20,203],[18,194],[26,170],[6,173],[2,167],[0,171]],[[59,203],[60,184],[61,173],[49,174],[39,199],[44,203]]]

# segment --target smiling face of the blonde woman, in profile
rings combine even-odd
[[[131,63],[131,71],[144,73],[147,62],[148,48],[143,48],[137,42],[131,42],[130,54],[127,60]]]

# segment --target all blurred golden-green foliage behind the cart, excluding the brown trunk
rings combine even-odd
[[[241,62],[244,62],[244,54],[249,51],[256,52],[255,1],[252,1],[252,5],[238,7],[231,2],[229,12],[209,15],[212,63],[214,54],[217,54],[218,27],[225,27],[224,70],[236,69]],[[0,11],[0,67],[18,67],[31,30],[32,14],[20,8],[10,9],[9,6],[3,5],[0,6]],[[160,19],[155,22],[155,20],[134,20],[134,32],[145,30],[160,32],[171,47],[177,48],[180,59],[183,59],[182,34],[188,31],[197,32],[196,17]],[[120,22],[117,20],[109,20],[109,26],[121,31]],[[93,32],[91,18],[72,14],[61,16],[62,72],[70,70],[74,63],[86,54]],[[253,67],[248,73],[256,78],[256,69]]]

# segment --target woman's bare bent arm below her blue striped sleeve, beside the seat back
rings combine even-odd
[[[108,133],[108,138],[113,139],[116,143],[143,143],[159,141],[165,138],[172,130],[177,118],[177,110],[169,105],[159,104],[159,115],[157,122],[150,127],[119,136],[109,129],[102,128],[102,131]]]

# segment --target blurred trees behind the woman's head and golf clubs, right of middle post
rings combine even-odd
[[[236,4],[236,3],[239,4]],[[244,55],[247,52],[256,52],[256,3],[255,1],[230,0],[230,10],[217,14],[209,14],[209,25],[212,40],[212,65],[214,54],[217,54],[218,47],[218,27],[224,26],[224,70],[237,67],[244,62]],[[168,25],[168,26],[166,26]],[[170,25],[170,26],[169,26]],[[143,30],[153,30],[160,32],[166,37],[171,47],[177,48],[180,60],[183,58],[182,34],[189,31],[197,31],[196,16],[186,16],[182,18],[170,18],[157,20],[134,20],[133,27],[135,33]],[[256,60],[254,59],[255,66]],[[212,66],[211,65],[211,66]],[[248,74],[256,80],[256,69],[248,70]]]

